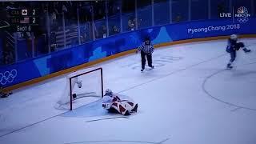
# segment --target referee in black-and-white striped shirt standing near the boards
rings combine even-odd
[[[142,45],[138,47],[138,49],[136,50],[136,53],[138,53],[139,51],[141,52],[141,56],[142,56],[141,71],[145,69],[146,59],[148,62],[148,66],[150,66],[153,69],[154,66],[152,65],[152,53],[154,52],[154,47],[150,42],[150,38],[145,39],[145,42],[143,42]]]

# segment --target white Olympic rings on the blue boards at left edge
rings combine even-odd
[[[0,83],[6,85],[7,82],[14,82],[14,78],[17,76],[17,70],[10,70],[4,73],[0,73]]]

